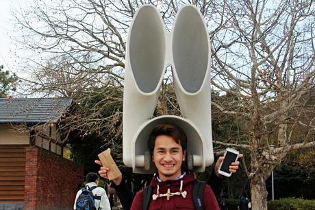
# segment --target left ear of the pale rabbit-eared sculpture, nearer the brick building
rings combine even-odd
[[[144,172],[144,161],[152,163],[151,154],[143,158],[147,139],[140,139],[139,148],[135,135],[153,117],[166,69],[165,54],[162,16],[154,5],[142,5],[129,27],[123,91],[123,162],[134,172]]]

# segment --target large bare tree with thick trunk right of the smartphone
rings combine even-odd
[[[288,152],[315,145],[314,104],[306,96],[314,91],[315,6],[313,1],[229,1],[217,7],[212,84],[237,100],[213,105],[251,121],[248,142],[233,145],[251,152],[253,209],[267,209],[265,183],[275,165]],[[302,127],[305,136],[294,139]]]

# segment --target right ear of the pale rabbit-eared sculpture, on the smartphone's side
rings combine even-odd
[[[188,140],[189,151],[186,153],[190,155],[186,155],[186,163],[192,166],[190,161],[194,158],[195,172],[204,172],[205,167],[214,162],[210,106],[211,50],[207,25],[197,7],[184,5],[177,12],[171,36],[177,102],[183,117],[194,124],[201,134],[201,142]],[[186,135],[189,135],[188,132]]]

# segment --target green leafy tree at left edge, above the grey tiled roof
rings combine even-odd
[[[0,65],[0,97],[7,97],[8,94],[16,91],[17,82],[16,75],[3,70],[3,65]]]

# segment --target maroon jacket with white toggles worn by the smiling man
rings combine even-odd
[[[157,194],[157,185],[159,185],[159,193],[166,194],[168,188],[171,193],[179,191],[181,180],[183,180],[182,191],[186,191],[186,198],[183,198],[182,195],[171,196],[169,200],[166,199],[166,196],[159,197],[156,200],[151,200],[149,205],[149,210],[153,209],[194,209],[194,202],[192,201],[192,185],[194,183],[194,174],[187,174],[184,178],[179,180],[171,180],[166,182],[158,182],[156,178],[151,180],[152,192]],[[131,210],[142,210],[142,195],[143,191],[139,191],[132,202]],[[203,209],[205,210],[219,210],[218,202],[216,196],[209,185],[205,185],[205,190],[203,192]]]

